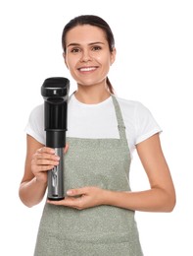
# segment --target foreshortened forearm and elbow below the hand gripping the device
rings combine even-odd
[[[32,207],[41,202],[46,191],[47,183],[37,181],[34,177],[30,181],[24,181],[19,190],[19,195],[27,207]]]

